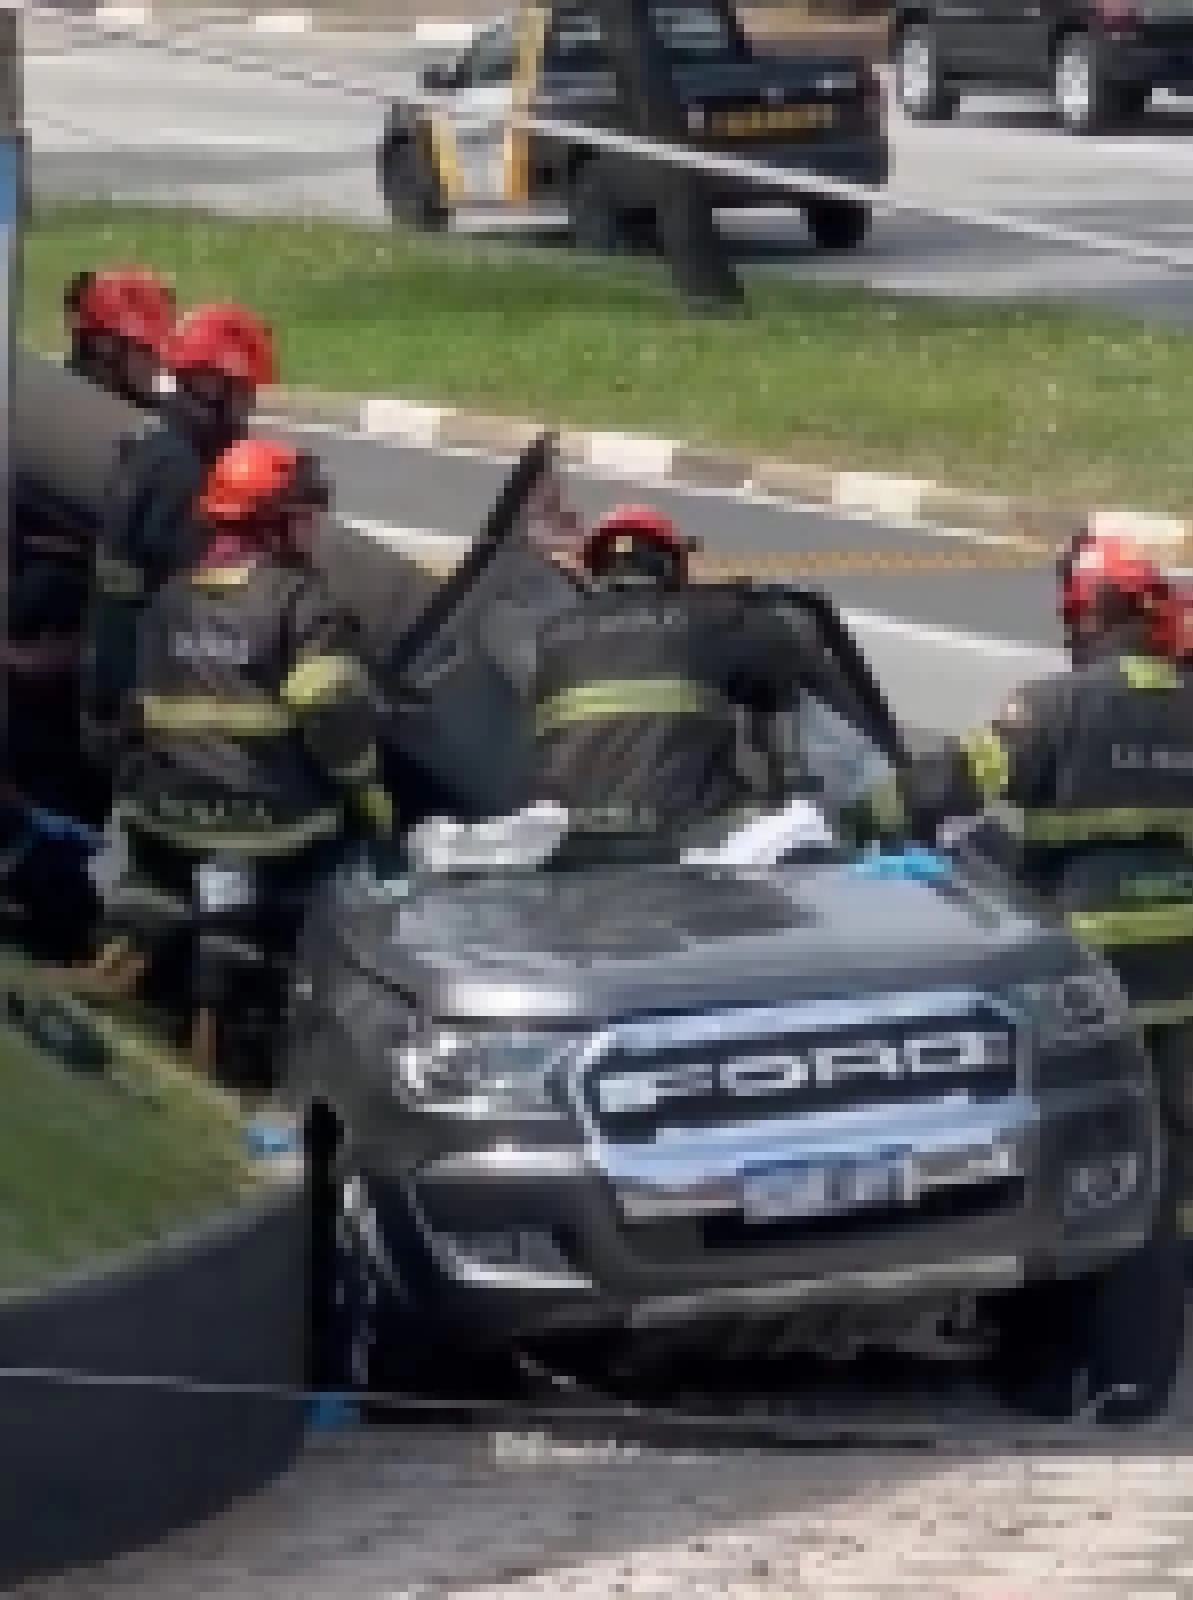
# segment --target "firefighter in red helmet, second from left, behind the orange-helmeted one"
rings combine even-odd
[[[240,306],[187,312],[162,358],[174,390],[160,402],[162,426],[122,453],[96,552],[82,731],[101,763],[118,742],[114,718],[133,685],[138,616],[190,565],[205,474],[246,435],[257,390],[277,379],[273,338]]]

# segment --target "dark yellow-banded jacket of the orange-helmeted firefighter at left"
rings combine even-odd
[[[253,858],[297,854],[353,822],[387,830],[355,637],[307,570],[170,579],[141,624],[125,824],[181,851]]]

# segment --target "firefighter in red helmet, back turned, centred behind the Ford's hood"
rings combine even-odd
[[[668,827],[752,798],[737,709],[756,717],[772,792],[801,781],[777,712],[816,677],[792,627],[734,587],[688,582],[688,547],[649,506],[587,536],[581,603],[537,640],[533,798]]]

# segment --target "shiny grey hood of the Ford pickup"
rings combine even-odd
[[[1073,966],[1062,931],[996,893],[836,864],[432,882],[341,918],[341,936],[425,1010],[493,1019],[1001,987]]]

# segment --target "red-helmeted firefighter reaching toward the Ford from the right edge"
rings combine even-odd
[[[1193,1232],[1193,610],[1127,538],[1081,534],[1059,563],[1071,672],[921,758],[905,787],[928,838],[1009,810],[1003,864],[1103,952],[1150,1045]],[[992,813],[996,816],[998,813]]]

